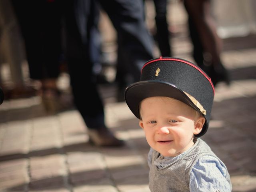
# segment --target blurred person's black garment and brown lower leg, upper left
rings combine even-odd
[[[48,112],[58,110],[62,54],[60,0],[12,0],[25,42],[30,78],[40,82],[39,94]]]

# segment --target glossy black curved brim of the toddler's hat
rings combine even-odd
[[[188,106],[194,108],[200,114],[200,110],[197,106],[188,98],[188,96],[175,85],[168,82],[162,82],[157,80],[140,81],[128,86],[124,92],[124,98],[132,113],[140,118],[139,105],[140,102],[146,98],[154,96],[165,96],[180,100]],[[205,118],[206,120],[206,118]],[[203,130],[196,136],[202,136],[208,128],[208,122],[206,120]]]

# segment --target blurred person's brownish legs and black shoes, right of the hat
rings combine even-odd
[[[184,0],[188,12],[190,37],[194,46],[194,60],[212,79],[230,84],[228,70],[220,59],[222,40],[218,37],[216,24],[212,16],[210,0]]]

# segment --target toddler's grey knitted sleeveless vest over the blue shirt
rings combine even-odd
[[[220,160],[201,139],[198,139],[182,158],[161,169],[154,165],[154,160],[159,155],[159,152],[155,150],[152,153],[149,173],[149,188],[151,192],[189,192],[190,171],[197,160],[204,155],[214,156]],[[230,180],[229,174],[227,174],[226,179]]]

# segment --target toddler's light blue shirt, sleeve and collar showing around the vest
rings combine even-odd
[[[148,165],[152,161],[153,149],[148,153]],[[181,158],[186,151],[176,157],[163,157],[160,155],[154,162],[158,168],[163,168],[178,158]],[[204,155],[198,159],[190,172],[190,192],[231,192],[232,186],[226,180],[226,168],[220,161],[210,155]],[[216,191],[216,188],[218,189]]]

